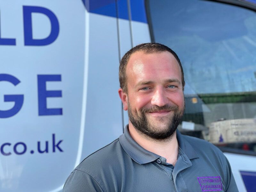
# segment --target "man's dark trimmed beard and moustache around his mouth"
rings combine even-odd
[[[141,108],[141,117],[138,116],[138,114],[137,117],[135,117],[132,114],[131,106],[128,103],[128,116],[134,128],[137,129],[139,132],[144,133],[152,139],[166,140],[168,138],[171,138],[173,133],[176,131],[183,116],[184,108],[185,107],[183,107],[183,109],[181,109],[180,111],[177,105],[164,105],[163,107],[153,106],[151,108]],[[159,110],[170,110],[174,112],[172,119],[168,122],[167,129],[163,131],[159,131],[157,130],[157,128],[152,128],[145,115],[145,113],[147,112],[155,112]]]

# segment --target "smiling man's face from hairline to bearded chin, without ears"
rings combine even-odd
[[[184,112],[181,70],[170,52],[131,55],[127,68],[128,115],[132,125],[153,139],[175,132]]]

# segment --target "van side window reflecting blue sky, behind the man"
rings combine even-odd
[[[173,49],[183,66],[178,129],[223,151],[256,155],[256,13],[201,0],[146,5],[152,41]]]

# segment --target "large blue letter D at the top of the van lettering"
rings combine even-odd
[[[32,13],[43,13],[51,21],[51,33],[45,39],[33,39],[32,36]],[[59,35],[59,22],[57,17],[52,11],[44,7],[34,7],[34,6],[23,6],[23,22],[24,22],[24,44],[42,46],[48,45],[54,42]]]

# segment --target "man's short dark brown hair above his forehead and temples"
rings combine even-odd
[[[185,86],[184,73],[183,73],[183,68],[181,66],[180,59],[179,59],[178,55],[174,51],[172,51],[172,49],[170,49],[169,47],[167,47],[163,44],[160,44],[160,43],[143,43],[143,44],[139,44],[139,45],[133,47],[128,52],[126,52],[124,54],[123,58],[120,61],[120,65],[119,65],[119,83],[120,83],[120,87],[123,89],[123,91],[125,93],[127,93],[126,66],[127,66],[128,60],[130,59],[130,56],[132,55],[132,53],[138,52],[138,51],[143,51],[144,53],[154,53],[154,52],[168,51],[168,52],[172,53],[172,55],[175,57],[175,59],[178,61],[179,65],[180,65],[181,81],[182,81],[181,83],[182,83],[182,88],[184,89],[184,86]]]

